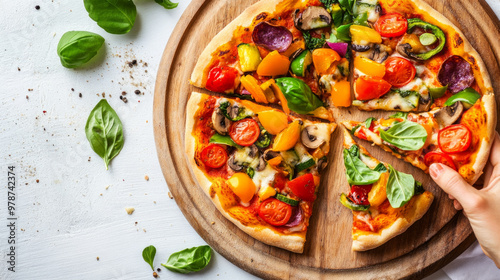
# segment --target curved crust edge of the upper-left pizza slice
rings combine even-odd
[[[231,23],[226,25],[215,37],[210,41],[210,43],[205,47],[201,53],[196,66],[194,67],[193,73],[191,74],[191,84],[196,87],[204,88],[206,85],[206,80],[204,80],[205,69],[209,66],[212,61],[212,54],[220,46],[230,42],[233,39],[233,33],[238,28],[238,26],[250,26],[254,18],[260,13],[273,13],[276,6],[281,2],[294,2],[294,0],[261,0],[252,6],[248,7],[243,13],[241,13],[236,19]]]

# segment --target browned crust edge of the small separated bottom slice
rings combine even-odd
[[[380,233],[362,232],[356,234],[353,232],[352,250],[366,251],[374,249],[405,232],[429,210],[434,195],[426,191],[412,199],[415,199],[413,213],[398,218],[390,227],[383,229]]]

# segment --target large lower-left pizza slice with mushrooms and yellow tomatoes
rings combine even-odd
[[[186,153],[203,191],[244,232],[301,253],[333,123],[193,92]]]

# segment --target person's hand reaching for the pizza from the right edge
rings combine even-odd
[[[432,179],[453,199],[455,209],[464,210],[483,252],[500,268],[500,136],[495,135],[484,186],[477,190],[446,165],[430,166]]]

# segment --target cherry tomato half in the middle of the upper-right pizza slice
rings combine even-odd
[[[393,87],[402,87],[410,83],[417,70],[413,64],[401,57],[391,57],[385,61],[385,76],[386,80]]]

